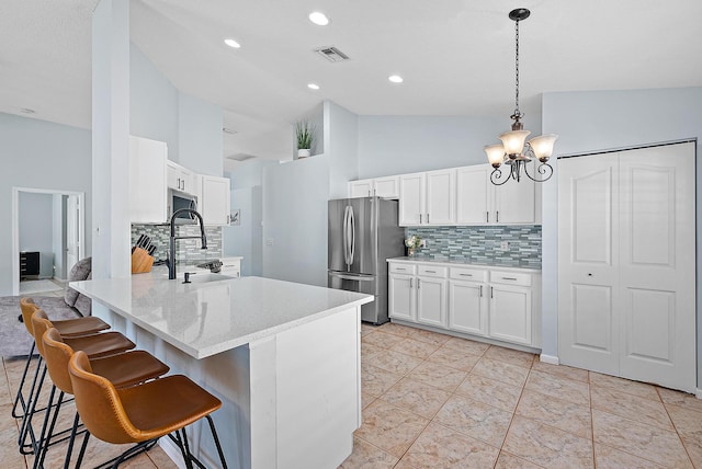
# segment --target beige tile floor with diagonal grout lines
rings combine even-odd
[[[341,468],[702,468],[691,394],[392,323],[362,334],[363,425]],[[10,416],[23,366],[3,359],[1,468],[33,462]],[[67,427],[70,405],[61,414]],[[122,449],[92,438],[84,467]],[[45,467],[61,467],[64,451],[52,448]],[[156,447],[122,467],[176,466]]]

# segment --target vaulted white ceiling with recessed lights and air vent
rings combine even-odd
[[[90,127],[97,3],[0,2],[0,112]],[[288,159],[291,124],[322,100],[360,115],[503,115],[507,127],[519,7],[532,12],[520,23],[528,118],[546,91],[702,85],[700,0],[132,0],[131,36],[178,89],[225,110],[236,134],[224,157]],[[315,10],[331,24],[310,23]],[[351,60],[331,64],[322,46]]]

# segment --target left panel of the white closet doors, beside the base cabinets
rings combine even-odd
[[[558,160],[558,357],[619,373],[616,159]]]

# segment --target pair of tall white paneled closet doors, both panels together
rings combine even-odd
[[[694,146],[558,161],[562,363],[695,390]]]

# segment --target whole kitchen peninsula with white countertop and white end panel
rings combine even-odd
[[[261,277],[183,284],[157,274],[71,283],[109,321],[217,396],[230,468],[336,468],[361,425],[360,318],[372,296]],[[97,312],[100,314],[100,312]],[[208,431],[194,454],[218,460]],[[162,438],[173,459],[178,450]]]

